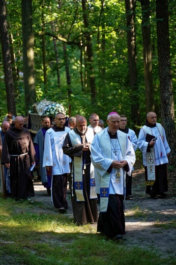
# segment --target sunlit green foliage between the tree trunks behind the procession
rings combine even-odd
[[[41,4],[42,3],[42,4]],[[102,3],[104,5],[102,6]],[[120,114],[128,116],[128,125],[135,128],[136,124],[131,122],[133,114],[132,105],[139,101],[140,123],[145,120],[145,86],[143,77],[143,54],[142,54],[142,32],[141,32],[141,5],[136,2],[135,27],[137,47],[137,70],[138,89],[136,95],[130,89],[128,54],[127,54],[127,26],[125,3],[123,1],[91,1],[87,6],[86,15],[89,19],[87,26],[83,23],[83,12],[81,1],[63,0],[57,1],[33,1],[33,30],[35,38],[35,84],[37,101],[44,98],[58,101],[68,109],[71,105],[71,115],[82,114],[89,117],[92,112],[99,114],[100,118],[106,120],[107,114],[113,108]],[[59,5],[59,6],[58,6]],[[175,66],[175,9],[174,1],[169,2],[170,14],[170,55],[171,63]],[[18,73],[22,73],[22,36],[21,36],[21,1],[14,0],[7,3],[9,34],[13,36],[13,49],[16,58]],[[53,24],[53,28],[51,25]],[[54,31],[53,31],[54,29]],[[47,84],[43,77],[43,53],[42,53],[42,31],[45,35]],[[82,65],[80,62],[81,45],[84,45],[84,34],[89,32],[92,38],[94,70],[96,80],[96,104],[91,103],[89,76],[86,76],[87,65],[84,64],[84,49],[82,49]],[[56,49],[58,64],[53,45],[53,36],[56,36]],[[155,3],[151,2],[151,36],[153,46],[153,86],[155,108],[160,116],[160,89],[158,76],[157,58],[157,33],[155,19]],[[71,84],[67,84],[66,58],[63,51],[65,39],[67,47],[67,61]],[[82,66],[82,68],[81,68]],[[81,86],[80,71],[82,70],[84,83]],[[61,84],[57,84],[57,71],[60,72]],[[0,65],[0,74],[3,76],[3,67]],[[175,71],[172,80],[175,86]],[[19,75],[18,87],[16,88],[16,107],[18,114],[24,114],[24,88],[22,76]],[[87,84],[86,84],[87,83]],[[68,91],[71,89],[71,94]],[[3,98],[3,106],[0,109],[1,121],[7,113],[5,85],[1,78],[0,92]],[[175,91],[174,91],[175,99]],[[139,124],[138,124],[139,125]]]

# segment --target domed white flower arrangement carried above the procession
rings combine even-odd
[[[43,115],[55,117],[58,112],[62,112],[66,115],[67,109],[64,108],[63,104],[58,102],[52,102],[51,104],[47,105],[44,109]]]

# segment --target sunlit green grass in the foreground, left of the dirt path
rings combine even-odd
[[[165,265],[176,261],[160,257],[154,249],[108,240],[96,232],[96,226],[76,226],[67,215],[38,214],[42,207],[42,203],[0,198],[1,265]],[[134,213],[142,214],[139,208]]]

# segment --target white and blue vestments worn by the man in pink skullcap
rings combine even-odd
[[[123,168],[112,168],[111,172],[107,172],[113,160],[126,160],[128,163],[129,175],[135,163],[135,152],[127,135],[118,130],[118,139],[110,139],[108,128],[96,134],[92,142],[91,159],[97,170],[96,185],[100,183],[100,208],[106,211],[108,203],[108,194],[124,194],[125,190],[125,171]],[[114,151],[115,149],[115,151]],[[119,179],[116,176],[120,172]],[[105,194],[106,193],[106,194]],[[104,202],[103,202],[104,201]]]

